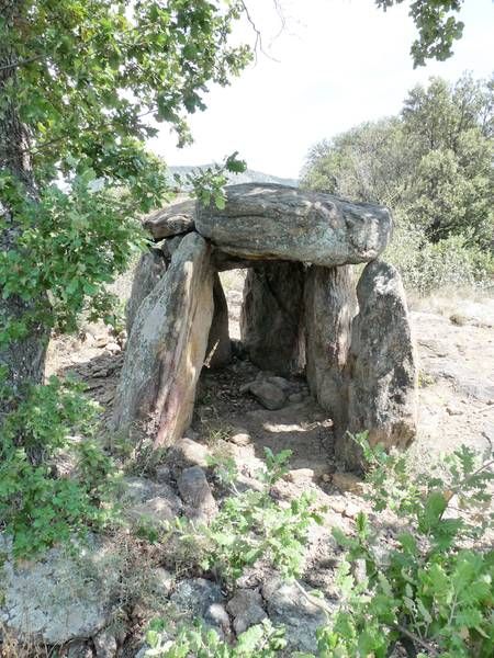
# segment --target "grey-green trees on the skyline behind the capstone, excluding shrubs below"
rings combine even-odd
[[[437,242],[493,231],[493,83],[463,76],[413,89],[398,117],[367,123],[308,154],[303,184],[383,203]]]

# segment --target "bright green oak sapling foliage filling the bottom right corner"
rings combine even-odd
[[[366,435],[357,440],[370,465],[374,509],[392,510],[406,525],[384,560],[363,513],[355,537],[335,532],[347,551],[338,575],[344,603],[319,632],[321,655],[378,658],[402,644],[409,656],[486,658],[494,640],[494,553],[468,546],[492,527],[484,511],[492,451],[479,462],[463,446],[433,473],[414,473],[405,455],[371,449]],[[366,567],[359,580],[357,560]]]

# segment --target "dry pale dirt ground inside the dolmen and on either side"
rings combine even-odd
[[[239,315],[245,271],[222,274],[228,300],[231,336],[239,338]],[[130,277],[119,287],[128,295]],[[459,295],[413,302],[412,322],[419,362],[419,431],[413,447],[419,461],[450,452],[465,443],[485,450],[494,442],[494,298],[469,300]],[[124,341],[103,325],[88,325],[79,338],[52,341],[47,375],[72,375],[86,382],[89,395],[111,413]],[[263,409],[244,384],[258,370],[234,359],[228,368],[204,371],[198,389],[193,431],[199,440],[214,442],[246,431],[248,450],[236,446],[238,460],[248,463],[263,446],[293,451],[293,469],[312,469],[314,478],[332,472],[330,419],[307,397],[279,411]],[[303,386],[303,382],[295,382]],[[245,454],[244,454],[245,453]]]

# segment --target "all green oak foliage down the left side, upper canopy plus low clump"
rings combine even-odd
[[[30,387],[2,364],[40,327],[75,331],[81,311],[117,321],[106,285],[143,246],[138,216],[170,198],[144,143],[167,123],[186,144],[207,84],[227,84],[250,53],[228,43],[236,0],[0,7],[0,522],[24,555],[104,521],[110,464],[88,438],[80,392]],[[195,190],[221,203],[222,180],[211,172]],[[57,450],[78,455],[74,477],[54,476]]]

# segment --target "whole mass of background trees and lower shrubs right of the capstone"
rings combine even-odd
[[[431,79],[400,117],[366,123],[310,151],[303,185],[394,212],[390,260],[419,293],[494,273],[492,81]]]

